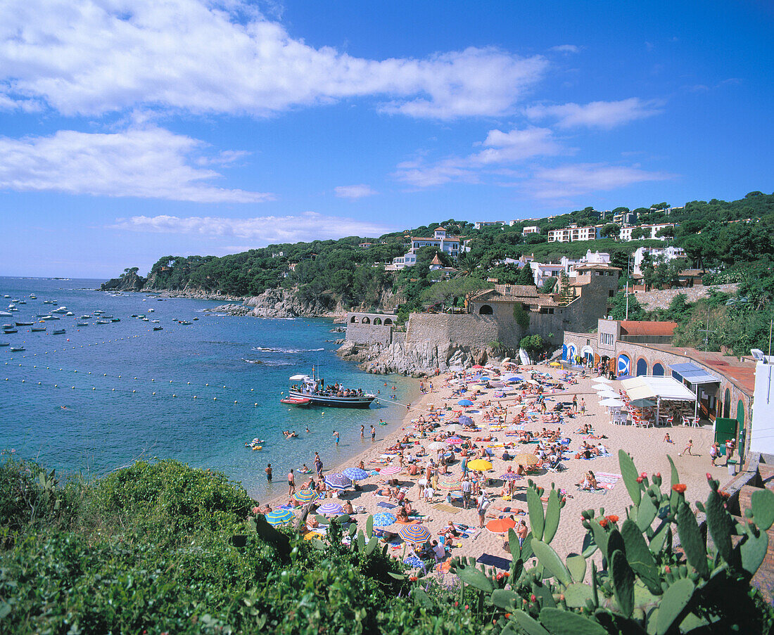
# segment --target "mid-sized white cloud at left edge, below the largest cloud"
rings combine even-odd
[[[111,134],[60,130],[50,137],[0,137],[0,189],[136,196],[196,203],[259,203],[271,194],[210,185],[221,175],[194,167],[204,143],[163,128]],[[216,162],[235,159],[221,153]]]

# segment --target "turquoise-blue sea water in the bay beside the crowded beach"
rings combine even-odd
[[[0,333],[0,342],[26,349],[0,348],[0,448],[49,469],[92,475],[139,456],[180,459],[220,469],[263,500],[283,493],[287,471],[311,466],[316,451],[325,466],[334,466],[368,449],[369,426],[376,426],[380,439],[406,411],[397,403],[416,397],[416,381],[365,374],[336,357],[334,340],[344,335],[330,333],[330,320],[216,316],[204,309],[222,302],[114,296],[94,291],[99,282],[0,278],[0,310],[14,299],[26,300],[12,316],[0,316],[0,324],[31,322],[59,306],[74,313],[46,321],[45,333],[31,333],[29,326]],[[81,319],[94,310],[121,322]],[[67,333],[53,335],[58,328]],[[289,376],[308,374],[313,366],[326,382],[381,391],[381,397],[394,392],[396,400],[367,411],[280,404]],[[390,425],[377,425],[380,418]],[[286,429],[298,438],[285,439]],[[341,434],[338,447],[334,430]],[[265,439],[263,449],[245,448],[255,437]],[[263,470],[269,462],[274,483],[267,490]]]

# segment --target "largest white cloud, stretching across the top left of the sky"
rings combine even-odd
[[[412,117],[496,115],[547,64],[494,48],[358,58],[309,46],[238,0],[0,3],[0,90],[66,115],[150,106],[265,116],[348,97]]]

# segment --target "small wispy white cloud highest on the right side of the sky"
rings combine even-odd
[[[644,119],[661,112],[656,101],[630,97],[621,101],[592,101],[590,104],[562,104],[526,108],[530,119],[556,118],[560,128],[615,128],[629,121]]]

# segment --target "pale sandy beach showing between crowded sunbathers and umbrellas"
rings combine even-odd
[[[550,374],[552,378],[559,377],[563,374],[561,370],[551,369],[544,365],[533,367],[519,367],[519,370],[515,371],[516,374],[522,377],[529,377],[529,374],[536,371],[541,374]],[[424,476],[424,469],[428,463],[428,460],[435,457],[435,452],[428,451],[429,456],[422,456],[416,459],[416,465],[420,467],[420,473],[416,476],[409,476],[408,469],[401,469],[397,474],[390,476],[381,476],[375,473],[377,468],[384,468],[385,466],[398,466],[399,458],[396,454],[386,454],[385,449],[390,446],[395,446],[399,443],[405,435],[409,435],[411,442],[418,441],[419,445],[410,446],[405,450],[406,454],[411,453],[416,455],[416,452],[420,447],[426,448],[432,441],[432,438],[437,435],[438,432],[444,431],[451,423],[452,418],[455,418],[451,411],[445,411],[446,415],[441,419],[440,427],[427,432],[422,436],[417,432],[418,420],[420,416],[427,418],[433,408],[443,408],[443,405],[449,405],[454,410],[465,410],[464,414],[470,416],[473,421],[478,425],[478,432],[472,432],[461,429],[459,434],[463,438],[469,438],[474,442],[474,449],[482,448],[490,445],[490,442],[479,442],[474,439],[485,438],[491,434],[491,436],[497,441],[492,441],[492,445],[497,445],[498,442],[511,442],[518,441],[516,437],[506,437],[505,432],[509,428],[513,417],[519,412],[521,407],[516,404],[516,395],[522,390],[525,384],[515,384],[513,387],[506,387],[505,398],[495,398],[494,394],[498,388],[483,388],[481,385],[471,383],[469,395],[474,388],[479,388],[481,394],[478,394],[474,398],[474,406],[469,408],[462,408],[457,405],[457,401],[462,398],[467,398],[465,395],[455,396],[452,394],[452,387],[441,387],[444,385],[444,381],[450,375],[442,374],[440,377],[433,377],[433,392],[427,392],[422,394],[420,398],[413,402],[411,408],[406,412],[406,415],[402,421],[402,425],[389,435],[386,435],[382,439],[379,438],[380,430],[377,430],[377,440],[372,444],[372,447],[365,452],[361,452],[360,455],[349,459],[347,463],[341,466],[337,466],[335,469],[329,469],[326,466],[324,474],[334,473],[346,467],[358,466],[361,461],[365,465],[365,469],[372,472],[372,476],[368,476],[367,479],[358,482],[361,487],[360,490],[343,490],[337,492],[333,497],[329,497],[326,500],[321,500],[320,504],[324,502],[335,502],[344,504],[346,500],[351,501],[351,504],[355,508],[365,509],[361,513],[355,514],[355,518],[358,519],[359,524],[365,524],[365,517],[368,514],[377,514],[382,511],[389,511],[397,513],[398,508],[388,508],[389,505],[394,505],[395,501],[390,501],[388,497],[381,497],[375,495],[375,492],[379,488],[379,483],[383,483],[387,479],[397,479],[399,487],[407,488],[405,500],[410,501],[413,508],[413,514],[417,514],[417,520],[427,527],[432,534],[433,539],[438,538],[438,533],[447,525],[448,522],[453,522],[457,525],[464,525],[471,527],[467,531],[461,531],[461,537],[454,538],[448,541],[450,544],[450,550],[447,553],[450,555],[465,555],[478,558],[482,554],[490,554],[503,558],[510,558],[510,553],[503,549],[503,535],[494,534],[488,531],[487,528],[478,530],[479,518],[478,512],[475,508],[475,500],[471,500],[471,508],[464,509],[457,493],[457,498],[453,504],[449,506],[446,501],[447,491],[439,490],[436,492],[434,500],[432,502],[426,502],[423,500],[423,489],[417,485],[417,481]],[[490,375],[491,377],[491,375]],[[585,401],[586,412],[581,415],[580,412],[574,416],[574,418],[564,418],[562,423],[544,423],[541,420],[541,416],[538,414],[533,415],[523,425],[524,430],[537,434],[543,428],[550,428],[556,430],[560,428],[560,436],[562,438],[570,439],[570,443],[567,446],[567,454],[565,456],[574,456],[577,450],[580,448],[581,443],[587,441],[589,444],[597,444],[602,442],[608,449],[608,456],[598,456],[594,459],[576,459],[567,458],[561,460],[561,465],[564,466],[563,471],[559,473],[553,473],[546,471],[546,469],[539,469],[534,474],[530,474],[522,480],[515,480],[515,495],[513,500],[504,500],[501,496],[503,482],[499,480],[499,477],[509,469],[516,469],[513,461],[502,460],[502,448],[492,448],[494,456],[489,456],[488,460],[492,463],[492,469],[484,473],[485,477],[489,477],[491,485],[485,486],[484,489],[488,493],[488,499],[491,504],[488,508],[486,521],[491,521],[498,517],[508,517],[510,514],[514,514],[515,510],[522,509],[526,511],[526,497],[524,490],[527,485],[527,478],[534,480],[539,486],[543,486],[546,490],[550,490],[551,483],[556,483],[557,488],[567,490],[567,503],[563,507],[561,512],[561,520],[556,537],[553,539],[551,545],[557,550],[557,552],[566,556],[571,552],[580,552],[582,542],[584,538],[584,529],[580,525],[580,512],[582,510],[594,509],[598,510],[599,507],[604,507],[605,514],[617,514],[619,517],[625,517],[625,508],[631,504],[631,500],[628,497],[623,480],[615,479],[615,475],[619,475],[621,470],[618,466],[618,450],[625,449],[632,455],[635,466],[639,472],[646,472],[649,475],[653,473],[661,473],[666,483],[669,483],[670,478],[670,464],[666,459],[669,455],[675,462],[677,469],[680,473],[680,481],[687,485],[687,496],[689,500],[706,500],[709,488],[707,486],[706,473],[711,473],[715,479],[724,483],[728,480],[728,470],[724,466],[725,459],[720,459],[719,466],[711,466],[710,461],[710,446],[712,442],[712,427],[711,425],[704,425],[700,428],[690,428],[683,425],[677,425],[674,427],[667,426],[666,428],[636,428],[632,425],[614,425],[611,423],[608,411],[601,405],[599,405],[599,399],[597,392],[592,388],[592,385],[596,383],[596,377],[581,377],[580,374],[576,374],[577,384],[567,385],[563,390],[557,391],[552,394],[551,391],[545,391],[546,395],[546,407],[548,411],[556,405],[557,401],[561,401],[566,405],[571,405],[574,395],[577,396],[577,402],[580,405],[581,399]],[[419,382],[419,380],[417,380]],[[428,381],[424,382],[426,385]],[[614,390],[618,391],[618,382],[612,384]],[[491,407],[496,408],[497,405],[507,408],[507,414],[505,419],[505,427],[500,429],[500,426],[495,422],[485,422],[485,411],[488,408],[481,407],[481,403],[491,401]],[[527,399],[525,411],[535,411],[535,407],[532,405],[533,400]],[[580,410],[580,408],[579,408]],[[496,419],[496,417],[495,417]],[[601,437],[600,439],[587,439],[586,435],[579,432],[575,432],[583,425],[591,425],[594,430],[595,437]],[[384,428],[382,428],[384,429]],[[669,433],[673,442],[666,442],[664,436]],[[366,439],[369,439],[369,431],[366,428]],[[694,456],[683,455],[679,456],[683,452],[684,447],[687,445],[689,439],[693,440],[692,452]],[[510,450],[511,454],[518,454],[521,452],[533,452],[536,448],[533,444],[520,444],[515,442],[515,448]],[[322,457],[324,463],[326,457]],[[312,467],[312,466],[310,466]],[[576,483],[578,483],[587,473],[588,470],[592,470],[600,479],[601,482],[606,483],[609,489],[586,491],[580,490]],[[452,480],[458,480],[461,477],[461,459],[458,452],[455,452],[455,460],[448,466],[448,474],[441,475],[441,478],[450,478]],[[275,482],[277,484],[283,483],[286,475],[275,475]],[[297,486],[308,479],[309,476],[316,475],[304,475],[298,474],[296,476]],[[288,498],[276,497],[272,501],[272,507],[276,509],[278,505],[286,503]],[[380,505],[381,504],[381,505]],[[507,508],[511,508],[507,510]],[[499,508],[499,509],[498,509]],[[506,511],[507,510],[507,511]],[[516,521],[523,518],[529,527],[529,515],[515,515]],[[395,524],[387,527],[387,531],[396,532],[400,527],[400,524]],[[464,537],[467,536],[467,537]],[[395,548],[394,554],[396,557],[402,557],[403,550],[401,548]]]

